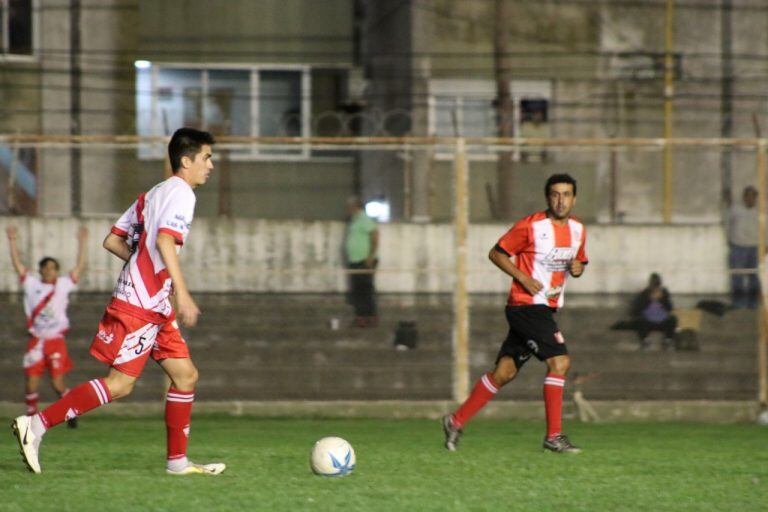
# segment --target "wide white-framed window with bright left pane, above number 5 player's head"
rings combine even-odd
[[[168,135],[180,126],[191,126],[214,135],[304,137],[310,135],[312,102],[334,108],[344,100],[337,87],[346,77],[343,69],[306,65],[195,67],[148,61],[136,61],[135,66],[139,135]],[[339,79],[329,81],[329,74]],[[157,157],[162,151],[145,147],[140,154]],[[243,145],[232,155],[310,156],[307,148],[267,144]]]

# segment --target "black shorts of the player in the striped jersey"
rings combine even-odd
[[[504,356],[511,357],[519,370],[531,356],[544,361],[568,354],[565,339],[553,316],[554,310],[549,306],[507,306],[505,313],[509,334],[496,356],[496,363]]]

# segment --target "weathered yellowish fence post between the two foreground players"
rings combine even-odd
[[[467,297],[467,230],[469,227],[469,169],[466,143],[456,139],[454,160],[453,399],[469,395],[469,300]]]

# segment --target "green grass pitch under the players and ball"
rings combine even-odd
[[[579,455],[541,450],[543,424],[477,420],[460,451],[428,420],[194,418],[190,458],[218,476],[164,473],[161,418],[84,417],[52,430],[42,475],[6,430],[0,510],[766,510],[768,429],[684,423],[567,424]],[[314,441],[352,443],[357,468],[314,476]]]

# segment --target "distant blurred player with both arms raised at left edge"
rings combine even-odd
[[[38,263],[40,277],[31,274],[19,257],[19,249],[16,246],[18,230],[15,226],[9,226],[6,233],[11,262],[24,290],[26,328],[32,336],[27,342],[23,361],[26,378],[24,401],[27,404],[27,415],[32,416],[37,414],[40,378],[45,375],[46,370],[51,376],[51,386],[59,397],[67,392],[64,376],[72,370],[72,360],[67,353],[67,343],[64,339],[69,330],[67,306],[69,294],[76,289],[85,268],[88,229],[81,227],[77,232],[77,264],[66,276],[59,275],[59,262],[49,256]],[[77,418],[68,420],[67,425],[76,428]]]

